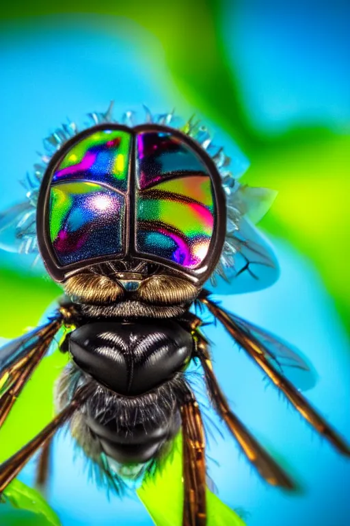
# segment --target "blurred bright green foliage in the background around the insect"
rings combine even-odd
[[[251,161],[244,181],[279,191],[273,209],[261,225],[275,236],[291,242],[318,268],[338,312],[349,330],[350,254],[349,192],[350,139],[327,129],[299,127],[280,136],[268,136],[254,128],[243,104],[239,75],[232,69],[224,42],[222,3],[215,0],[153,0],[128,2],[61,0],[30,3],[18,0],[1,8],[3,20],[29,16],[85,12],[124,16],[156,36],[165,51],[167,65],[183,97],[194,108],[228,132]],[[152,50],[150,50],[152,53]],[[0,286],[8,304],[3,313],[1,336],[21,334],[36,325],[47,305],[59,295],[51,281],[1,271]],[[37,288],[40,295],[36,295]],[[18,298],[21,299],[18,305]],[[66,363],[59,353],[45,358],[15,405],[8,423],[0,431],[0,460],[14,453],[36,434],[53,412],[53,381]],[[40,411],[34,411],[40,400]],[[27,425],[23,425],[26,422]],[[30,425],[29,425],[30,424]],[[30,436],[31,435],[31,436]],[[180,453],[154,481],[139,490],[139,497],[159,525],[180,525],[182,502]],[[166,479],[166,484],[164,480]],[[172,491],[169,490],[170,486]],[[167,488],[165,490],[165,488]],[[172,497],[170,497],[172,495]],[[242,525],[241,520],[208,491],[208,526]],[[27,513],[27,512],[23,512]],[[14,524],[46,524],[42,517],[22,515]],[[11,522],[12,521],[12,522]],[[18,522],[19,521],[19,522]],[[22,521],[22,522],[21,522]],[[32,521],[32,522],[31,522]],[[53,523],[56,524],[56,523]]]

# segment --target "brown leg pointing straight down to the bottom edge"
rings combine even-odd
[[[202,416],[187,390],[181,407],[183,424],[183,479],[185,484],[183,526],[206,526],[206,463]]]

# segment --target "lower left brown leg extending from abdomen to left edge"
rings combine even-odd
[[[77,392],[69,403],[53,421],[46,425],[40,433],[28,442],[22,449],[12,455],[8,460],[0,465],[0,494],[10,484],[10,482],[18,475],[23,466],[27,464],[29,458],[38,451],[40,447],[55,434],[55,432],[62,427],[66,422],[72,418],[73,414],[83,405],[90,395],[90,386],[83,386]]]

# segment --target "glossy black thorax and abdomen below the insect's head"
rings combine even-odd
[[[173,320],[96,321],[69,334],[70,354],[85,381],[91,377],[118,395],[103,411],[95,397],[87,403],[86,424],[106,455],[142,464],[174,438],[182,371],[193,348],[191,334]]]

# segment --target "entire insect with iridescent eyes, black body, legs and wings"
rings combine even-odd
[[[57,416],[0,466],[0,492],[40,447],[44,484],[49,441],[66,423],[96,479],[116,492],[126,476],[152,473],[181,431],[183,526],[205,526],[205,439],[187,375],[192,360],[200,362],[213,408],[247,460],[273,486],[291,490],[295,483],[230,409],[191,307],[211,312],[340,453],[350,449],[293,386],[295,372],[300,387],[312,385],[297,351],[220,308],[203,288],[211,278],[226,293],[275,279],[275,258],[249,213],[255,203],[261,216],[266,192],[240,189],[224,153],[211,157],[206,132],[193,132],[190,123],[191,136],[159,123],[119,125],[108,121],[109,112],[93,116],[96,125],[85,132],[70,129],[40,188],[32,188],[36,223],[21,205],[8,214],[11,225],[21,218],[17,236],[27,236],[28,252],[39,246],[66,296],[46,325],[0,349],[0,425],[62,326],[70,329],[60,347],[70,362],[57,381]],[[9,226],[3,217],[0,236]]]

